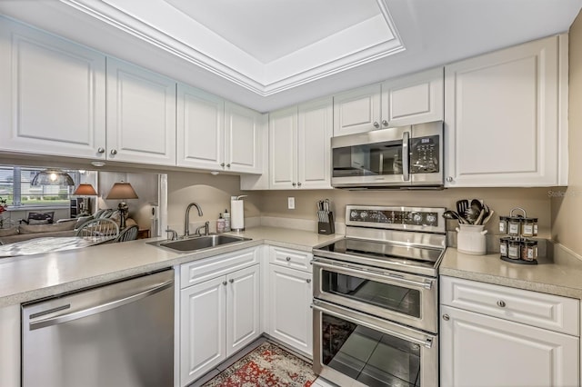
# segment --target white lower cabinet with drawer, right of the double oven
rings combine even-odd
[[[442,386],[579,385],[577,300],[449,277],[441,283]],[[539,327],[554,320],[553,330]],[[576,331],[564,333],[567,325]]]

